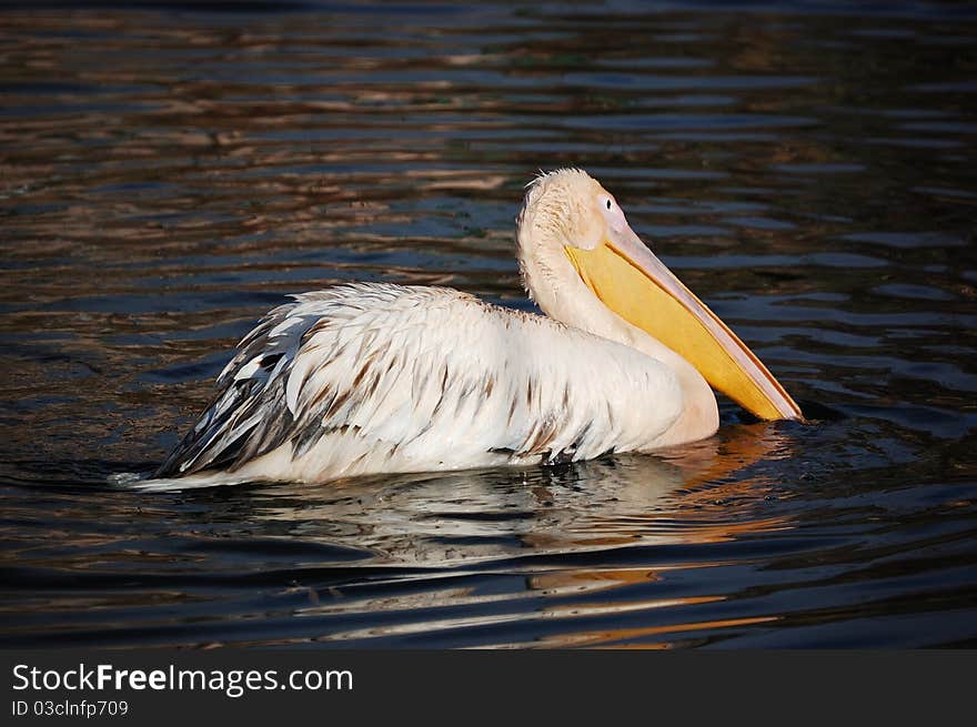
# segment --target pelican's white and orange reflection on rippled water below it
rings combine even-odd
[[[788,518],[765,514],[773,486],[762,474],[765,460],[788,456],[789,448],[776,424],[758,423],[727,427],[666,456],[253,484],[246,498],[228,502],[264,531],[343,548],[341,564],[298,564],[292,584],[273,598],[304,619],[302,640],[316,630],[309,619],[322,622],[314,640],[382,642],[451,632],[473,612],[491,628],[681,605],[682,613],[702,609],[703,620],[713,623],[709,605],[726,595],[676,598],[673,574],[721,565],[711,544],[792,527]],[[224,492],[193,496],[219,503]],[[465,615],[456,616],[460,609]],[[372,625],[342,627],[354,615]],[[689,628],[684,617],[675,624],[676,632]],[[610,644],[618,636],[565,623],[558,630],[541,645]],[[656,633],[664,638],[668,630]],[[490,638],[484,645],[505,644]]]

